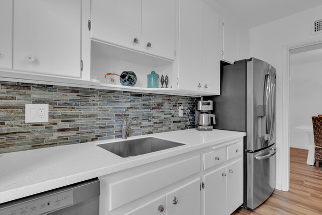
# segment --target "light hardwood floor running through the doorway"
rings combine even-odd
[[[307,150],[290,148],[290,190],[275,190],[254,211],[238,208],[232,214],[322,214],[322,171],[306,165]]]

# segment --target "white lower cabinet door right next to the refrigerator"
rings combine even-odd
[[[243,159],[239,159],[226,167],[227,171],[227,214],[232,213],[243,204]]]

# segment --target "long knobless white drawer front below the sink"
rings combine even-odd
[[[109,210],[141,198],[200,171],[200,156],[109,184]],[[160,180],[162,179],[162,180]]]

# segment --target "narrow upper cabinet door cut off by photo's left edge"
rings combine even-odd
[[[12,69],[13,1],[0,1],[0,68]]]

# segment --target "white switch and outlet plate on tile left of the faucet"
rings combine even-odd
[[[48,122],[48,104],[26,104],[25,121]]]

